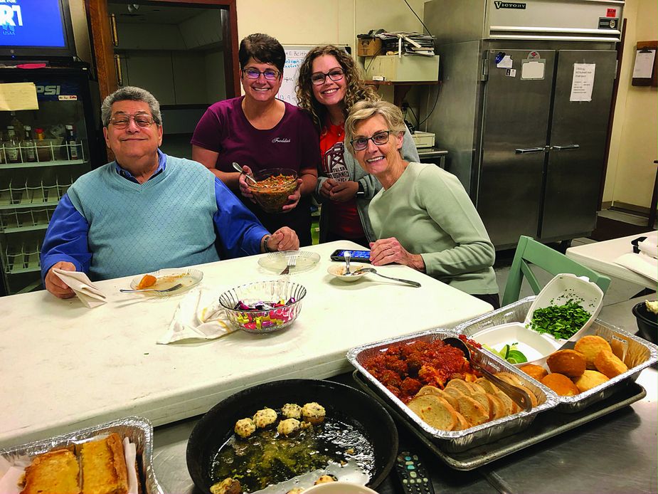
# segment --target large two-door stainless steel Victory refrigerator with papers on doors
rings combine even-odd
[[[498,249],[595,228],[624,2],[431,0],[428,130]]]

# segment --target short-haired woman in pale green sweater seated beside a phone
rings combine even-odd
[[[368,211],[378,238],[371,263],[404,264],[498,308],[496,251],[482,219],[455,175],[402,158],[404,130],[386,101],[356,103],[345,122],[349,151],[383,186]]]

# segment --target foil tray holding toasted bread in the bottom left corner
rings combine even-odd
[[[85,443],[97,436],[113,432],[119,434],[121,438],[129,438],[130,442],[136,446],[137,475],[142,485],[142,492],[145,489],[146,494],[164,494],[164,490],[158,484],[153,471],[153,426],[144,417],[126,417],[125,419],[63,434],[62,436],[33,441],[13,448],[0,449],[0,456],[9,461],[9,463],[14,463],[16,459],[21,457],[28,456],[32,458],[54,448]]]

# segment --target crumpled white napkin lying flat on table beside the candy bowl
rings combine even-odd
[[[188,339],[214,340],[236,329],[219,305],[216,291],[196,288],[181,300],[169,328],[157,343],[166,345]]]

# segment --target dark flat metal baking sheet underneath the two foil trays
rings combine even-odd
[[[354,381],[366,393],[378,400],[386,410],[403,424],[408,431],[418,438],[427,448],[432,451],[443,463],[455,470],[473,470],[481,466],[499,460],[516,451],[521,451],[528,446],[532,446],[553,436],[557,436],[566,431],[571,431],[578,426],[587,424],[599,417],[611,414],[613,411],[624,408],[635,401],[640,401],[647,396],[647,391],[640,384],[628,382],[627,386],[610,398],[599,401],[584,411],[566,414],[552,409],[546,413],[540,414],[537,419],[524,431],[516,433],[513,436],[502,438],[499,441],[489,443],[484,446],[478,446],[459,453],[445,451],[442,446],[431,438],[428,438],[422,431],[418,430],[415,424],[410,423],[406,416],[400,414],[400,411],[391,406],[385,399],[378,394],[378,391],[371,387],[371,384],[364,379],[359,371],[353,372]]]

